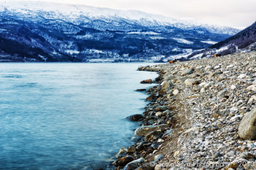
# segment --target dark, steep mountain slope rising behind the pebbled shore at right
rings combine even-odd
[[[239,33],[226,40],[218,42],[211,47],[193,52],[188,58],[204,58],[211,57],[214,53],[220,53],[222,56],[227,54],[235,54],[238,52],[256,51],[256,22],[252,26],[243,29]]]

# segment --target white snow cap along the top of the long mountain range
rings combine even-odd
[[[155,26],[176,26],[181,29],[191,29],[195,26],[205,27],[208,31],[213,33],[227,33],[234,35],[238,31],[236,29],[230,29],[230,27],[210,26],[202,24],[195,19],[174,19],[172,17],[166,17],[163,15],[156,15],[146,12],[140,12],[136,10],[113,10],[110,8],[98,8],[94,6],[85,6],[78,4],[60,4],[49,3],[42,1],[4,1],[0,0],[0,11],[8,10],[26,13],[31,12],[54,12],[58,14],[58,17],[62,16],[63,19],[77,19],[81,16],[89,17],[91,19],[129,19],[136,20],[136,22],[154,23]],[[51,16],[54,17],[54,16]],[[152,24],[151,23],[151,24]]]

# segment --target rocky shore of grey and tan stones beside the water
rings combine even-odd
[[[256,52],[138,70],[158,72],[159,85],[138,89],[149,95],[129,117],[140,139],[116,169],[256,169]]]

